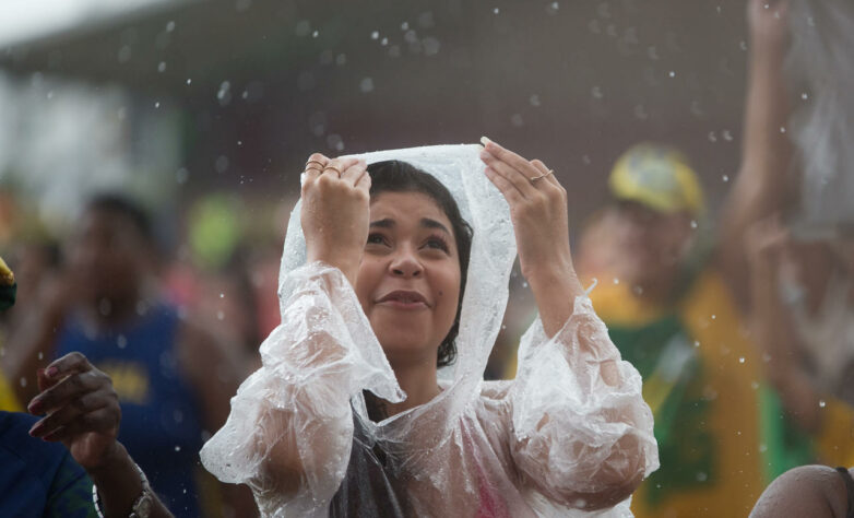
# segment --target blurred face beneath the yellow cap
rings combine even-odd
[[[601,222],[620,281],[643,290],[673,287],[692,240],[687,212],[664,213],[634,201],[612,204]]]

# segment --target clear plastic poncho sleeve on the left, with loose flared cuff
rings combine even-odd
[[[351,398],[365,388],[390,401],[404,396],[340,270],[307,264],[285,284],[262,366],[201,458],[221,481],[252,487],[263,516],[325,516],[349,460]]]

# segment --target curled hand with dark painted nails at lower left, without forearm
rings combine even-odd
[[[109,376],[81,353],[69,353],[38,370],[40,393],[29,402],[34,414],[47,414],[29,434],[59,440],[86,470],[111,460],[119,448],[121,409]]]

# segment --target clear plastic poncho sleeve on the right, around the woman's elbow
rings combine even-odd
[[[509,393],[511,455],[522,484],[573,508],[614,505],[659,468],[641,377],[620,358],[588,297],[551,339],[522,338]]]

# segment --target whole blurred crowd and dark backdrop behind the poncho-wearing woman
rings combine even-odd
[[[809,2],[137,3],[0,39],[0,410],[83,351],[177,516],[250,516],[198,451],[278,323],[300,164],[486,133],[555,168],[643,376],[662,468],[638,516],[745,516],[792,467],[854,466],[854,219],[805,215],[790,137],[821,95],[784,75]],[[854,196],[831,185],[810,207]],[[486,379],[535,311],[514,271]]]

